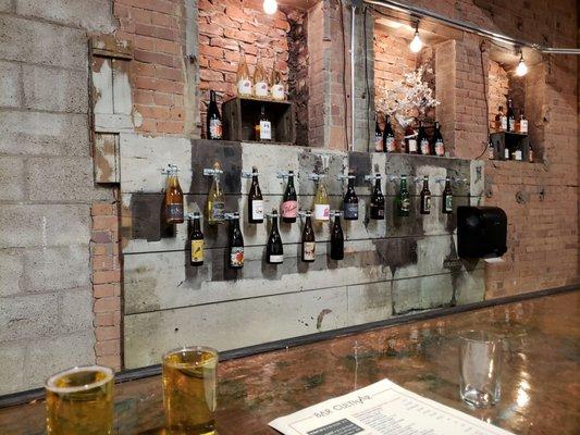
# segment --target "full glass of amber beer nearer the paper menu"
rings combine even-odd
[[[163,356],[163,405],[171,435],[215,434],[218,351],[194,346]]]

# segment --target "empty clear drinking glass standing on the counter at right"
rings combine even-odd
[[[482,331],[460,335],[460,396],[476,408],[495,405],[502,395],[502,341]]]

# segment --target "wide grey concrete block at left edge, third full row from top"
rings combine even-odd
[[[88,116],[0,110],[0,152],[89,157]]]

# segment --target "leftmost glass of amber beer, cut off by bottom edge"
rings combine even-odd
[[[111,369],[75,366],[46,383],[49,435],[110,435],[113,433]]]

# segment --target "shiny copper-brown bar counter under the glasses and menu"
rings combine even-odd
[[[275,434],[274,418],[385,377],[515,434],[579,434],[579,319],[576,290],[224,361],[219,434]],[[459,399],[457,337],[468,330],[505,338],[502,399],[491,409]],[[44,434],[44,407],[0,409],[0,434]],[[115,418],[118,434],[162,434],[160,376],[118,384]]]

